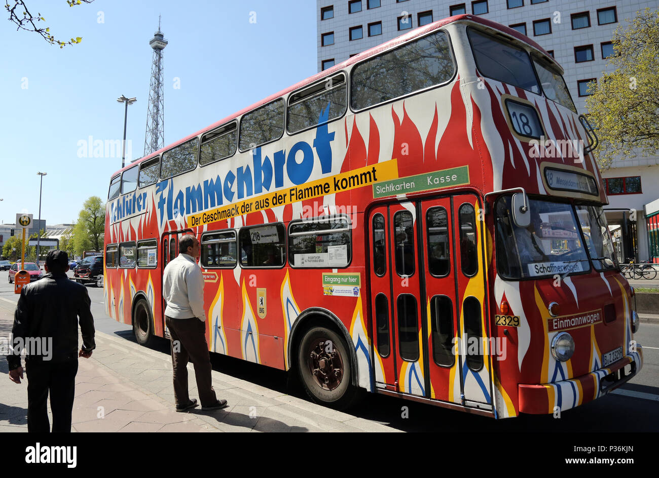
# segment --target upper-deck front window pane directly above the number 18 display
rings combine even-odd
[[[478,71],[488,78],[540,94],[529,53],[473,28],[467,30]]]

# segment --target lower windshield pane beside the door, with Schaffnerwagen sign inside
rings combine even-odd
[[[525,279],[590,269],[572,205],[529,199],[530,224],[523,228],[513,222],[511,198],[504,196],[496,203],[497,267],[502,277]]]

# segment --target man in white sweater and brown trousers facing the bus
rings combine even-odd
[[[204,312],[204,277],[196,263],[199,240],[188,234],[179,240],[179,255],[163,273],[163,298],[167,301],[165,323],[171,336],[171,361],[174,369],[176,411],[197,406],[188,396],[188,360],[194,364],[202,410],[225,408],[226,400],[217,400],[211,380],[210,354],[206,343]]]

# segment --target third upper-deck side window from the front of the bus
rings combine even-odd
[[[284,132],[284,100],[250,111],[241,120],[241,151],[281,138]]]

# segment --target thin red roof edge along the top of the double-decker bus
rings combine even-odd
[[[357,53],[357,55],[350,57],[349,59],[331,66],[331,68],[328,68],[327,70],[322,70],[321,72],[318,72],[314,74],[313,76],[309,76],[308,78],[302,80],[301,82],[297,82],[293,86],[289,86],[288,88],[285,88],[284,90],[281,90],[280,92],[273,93],[272,95],[262,99],[261,101],[257,101],[256,103],[241,109],[240,111],[237,111],[236,113],[233,113],[233,115],[229,115],[225,117],[224,119],[221,119],[217,122],[214,122],[210,126],[206,126],[206,128],[203,128],[202,130],[199,130],[196,133],[189,134],[188,136],[185,136],[185,138],[182,138],[181,140],[178,140],[176,142],[173,142],[165,147],[161,147],[161,149],[158,149],[158,151],[154,151],[153,153],[150,153],[136,161],[133,161],[132,163],[129,163],[123,169],[119,169],[119,171],[116,171],[115,173],[112,174],[111,177],[117,176],[117,174],[122,173],[123,171],[130,169],[134,165],[143,163],[144,161],[148,161],[149,159],[152,159],[154,157],[157,157],[160,153],[163,153],[163,151],[167,151],[167,149],[171,149],[172,147],[178,146],[179,144],[183,144],[188,140],[191,140],[192,138],[196,138],[196,136],[199,136],[200,134],[204,134],[208,131],[214,130],[218,126],[221,126],[231,120],[237,119],[238,117],[241,117],[245,113],[248,113],[249,111],[252,111],[253,109],[257,109],[258,107],[265,105],[266,103],[270,103],[270,101],[273,101],[279,97],[282,97],[286,95],[287,93],[293,92],[295,90],[298,90],[299,88],[302,88],[303,86],[306,86],[308,84],[311,84],[313,82],[316,82],[317,80],[320,80],[321,78],[324,78],[326,76],[331,76],[332,74],[339,72],[343,70],[346,66],[353,65],[359,61],[362,61],[368,57],[374,57],[378,55],[378,53],[385,51],[386,49],[389,49],[395,45],[399,45],[400,43],[405,43],[405,41],[409,41],[413,38],[419,37],[419,36],[424,36],[428,32],[431,32],[432,30],[436,30],[437,28],[440,28],[442,26],[445,26],[449,23],[453,22],[458,22],[458,21],[463,21],[463,20],[469,20],[474,23],[482,24],[483,26],[492,28],[494,30],[498,30],[504,34],[507,34],[508,36],[511,36],[515,38],[516,40],[523,41],[524,43],[527,43],[527,45],[530,45],[534,49],[540,51],[543,55],[548,57],[549,59],[552,60],[554,65],[558,66],[561,69],[561,72],[563,68],[554,60],[554,58],[547,53],[547,51],[542,48],[538,43],[535,41],[531,40],[529,37],[517,32],[517,30],[513,30],[512,28],[502,25],[497,22],[493,22],[492,20],[487,20],[486,18],[482,18],[478,15],[473,15],[473,14],[461,14],[461,15],[455,15],[455,16],[449,16],[447,18],[442,18],[442,20],[437,20],[436,22],[429,23],[421,28],[416,28],[415,30],[412,30],[411,32],[407,32],[406,34],[403,34],[401,36],[398,36],[396,38],[393,38],[392,40],[386,41],[385,43],[382,43],[376,47],[372,47],[368,50],[364,50],[361,53]]]

